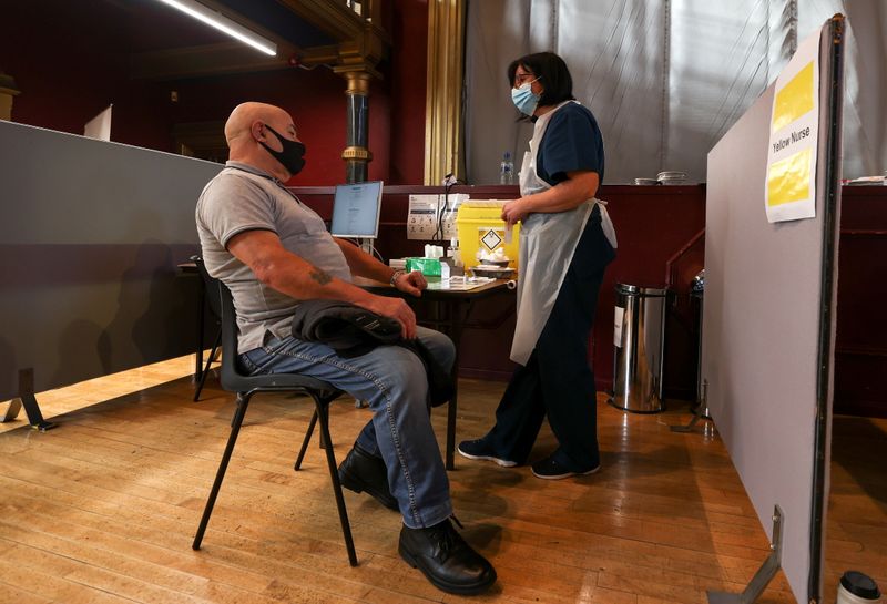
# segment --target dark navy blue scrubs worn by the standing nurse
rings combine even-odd
[[[537,155],[537,174],[552,186],[573,171],[603,180],[603,139],[592,113],[568,103],[552,115]],[[559,245],[560,242],[551,242]],[[588,339],[594,323],[604,269],[615,250],[601,228],[595,207],[573,253],[548,321],[526,366],[518,367],[483,437],[499,459],[526,463],[548,417],[559,448],[554,460],[584,472],[600,464],[594,373]]]

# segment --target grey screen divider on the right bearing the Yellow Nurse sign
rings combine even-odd
[[[769,224],[764,212],[774,85],[708,154],[706,401],[771,539],[774,506],[783,512],[782,569],[798,602],[822,592],[839,212],[835,22],[819,45],[816,217]]]

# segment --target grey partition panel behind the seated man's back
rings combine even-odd
[[[0,400],[193,350],[176,264],[221,167],[0,122]]]

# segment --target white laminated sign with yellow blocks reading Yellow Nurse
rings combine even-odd
[[[819,134],[819,30],[807,38],[776,79],[767,150],[767,221],[816,216]]]

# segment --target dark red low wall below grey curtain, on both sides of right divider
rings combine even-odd
[[[332,188],[296,188],[299,197],[329,218]],[[510,198],[516,186],[457,186],[473,198]],[[442,187],[386,187],[378,249],[385,258],[420,253],[426,242],[406,238],[410,193],[441,193]],[[887,187],[843,188],[838,255],[835,413],[887,417]],[[616,283],[663,287],[673,295],[666,311],[664,389],[666,398],[694,400],[696,390],[700,300],[690,285],[704,266],[705,186],[604,185],[599,196],[619,238],[616,259],[608,267],[589,338],[589,360],[598,389],[613,383],[613,308]],[[426,315],[427,316],[427,315]],[[499,323],[492,330],[472,321]],[[488,327],[488,326],[485,326]],[[514,331],[513,301],[480,300],[469,317],[459,358],[460,373],[508,379]]]

